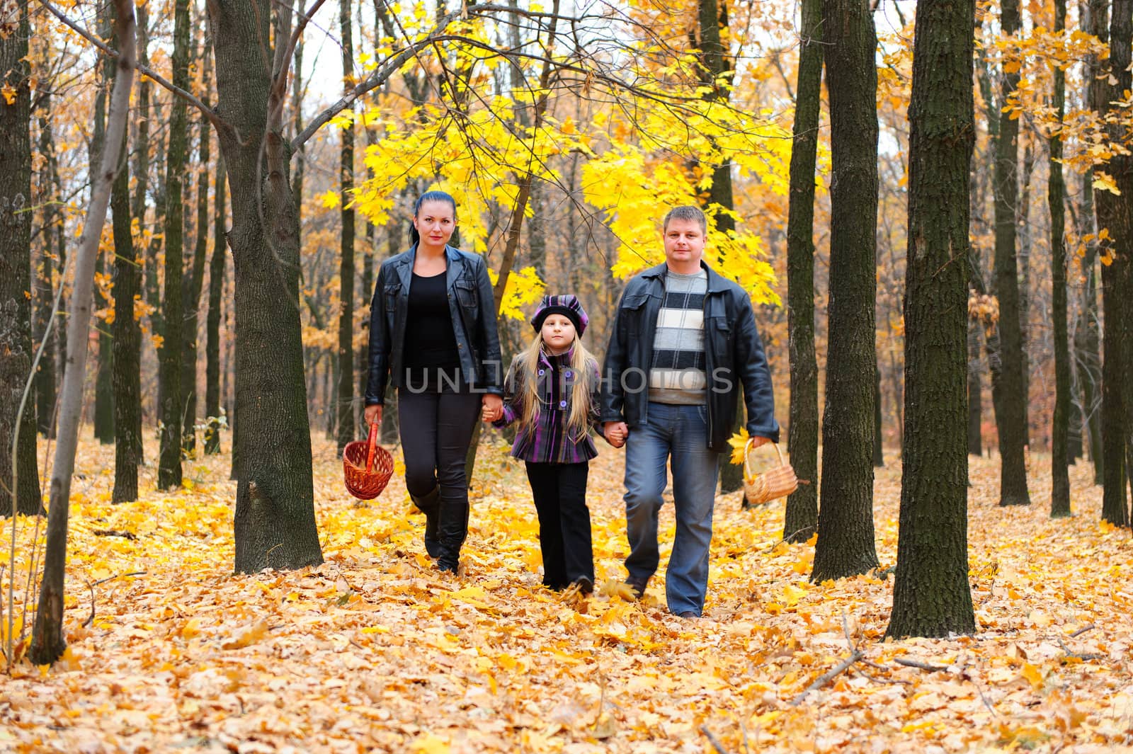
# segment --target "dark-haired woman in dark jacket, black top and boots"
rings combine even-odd
[[[465,459],[483,412],[503,415],[500,336],[484,258],[449,246],[457,203],[428,191],[414,206],[411,246],[382,263],[369,312],[366,421],[398,388],[406,488],[425,514],[425,549],[457,572],[468,533]]]

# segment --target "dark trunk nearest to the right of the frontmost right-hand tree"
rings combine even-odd
[[[1019,0],[1004,0],[1004,36],[1020,29]],[[1005,72],[1000,103],[1019,87],[1020,75]],[[1023,343],[1019,314],[1015,212],[1019,198],[1019,121],[999,119],[995,169],[995,292],[999,299],[998,369],[991,369],[996,426],[999,429],[999,505],[1030,505],[1026,489]]]

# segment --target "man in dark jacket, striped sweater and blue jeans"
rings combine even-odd
[[[625,583],[637,597],[657,571],[657,514],[672,457],[676,535],[666,572],[668,609],[699,617],[719,454],[727,448],[739,386],[748,434],[778,442],[770,371],[748,294],[702,260],[708,221],[698,207],[665,215],[665,264],[633,277],[606,349],[602,421],[625,447]]]

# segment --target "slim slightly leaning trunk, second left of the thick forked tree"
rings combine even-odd
[[[207,91],[212,78],[212,55],[206,44],[202,44],[204,58],[202,79]],[[197,323],[201,319],[201,291],[204,288],[205,263],[208,259],[208,161],[211,160],[212,126],[202,114],[197,120],[201,165],[197,169],[197,228],[196,245],[193,250],[191,273],[185,281],[185,332],[181,334],[181,395],[185,405],[185,426],[181,428],[181,444],[187,453],[197,448]]]

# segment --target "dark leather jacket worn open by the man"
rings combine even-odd
[[[717,452],[727,448],[740,384],[748,408],[748,434],[777,443],[780,427],[775,421],[772,375],[751,301],[742,288],[721,277],[704,262],[700,266],[708,272],[705,295],[708,447]],[[631,428],[648,423],[649,367],[666,268],[661,264],[630,280],[617,303],[602,374],[603,422],[624,421]]]

